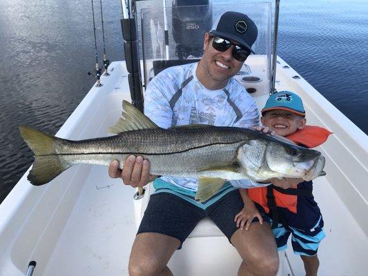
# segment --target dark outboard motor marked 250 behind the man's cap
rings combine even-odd
[[[202,57],[204,33],[212,27],[212,6],[209,0],[174,0],[173,37],[179,59]]]

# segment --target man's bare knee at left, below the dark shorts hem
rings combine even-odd
[[[159,233],[140,233],[135,237],[129,259],[129,275],[173,275],[166,266],[181,242]]]

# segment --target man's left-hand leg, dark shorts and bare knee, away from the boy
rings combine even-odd
[[[173,275],[166,264],[205,216],[177,195],[151,195],[130,253],[129,275]]]

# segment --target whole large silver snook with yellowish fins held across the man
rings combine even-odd
[[[117,135],[70,141],[21,126],[21,136],[35,152],[28,175],[34,185],[46,184],[75,164],[108,165],[128,155],[141,155],[151,174],[197,177],[196,199],[209,199],[226,180],[264,181],[273,177],[311,180],[320,175],[325,158],[247,128],[206,125],[159,128],[127,101],[122,117],[110,132]]]

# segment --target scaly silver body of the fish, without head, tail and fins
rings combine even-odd
[[[122,168],[126,157],[133,154],[150,161],[151,174],[196,177],[198,170],[231,164],[237,148],[258,136],[258,132],[244,128],[154,128],[113,137],[62,141],[56,150],[68,164],[108,165],[117,159]]]

